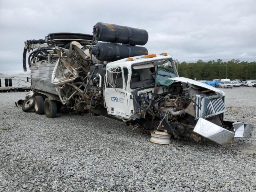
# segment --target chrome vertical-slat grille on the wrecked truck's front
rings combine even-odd
[[[219,95],[196,95],[196,118],[210,118],[226,111],[223,100]]]

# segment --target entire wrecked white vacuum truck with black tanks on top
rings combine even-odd
[[[27,40],[23,68],[32,51],[32,94],[22,109],[47,117],[57,109],[87,111],[151,132],[159,144],[170,143],[170,136],[218,144],[251,136],[253,125],[224,120],[223,91],[179,77],[172,57],[148,54],[147,41],[146,30],[106,23],[97,23],[93,35]]]

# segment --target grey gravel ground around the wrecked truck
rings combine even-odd
[[[256,124],[256,88],[224,91],[226,118]],[[228,146],[157,145],[102,116],[22,112],[25,94],[0,93],[0,192],[256,191],[255,130]]]

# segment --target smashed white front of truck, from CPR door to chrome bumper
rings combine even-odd
[[[218,144],[252,134],[250,124],[223,120],[222,90],[178,77],[166,54],[125,58],[108,63],[106,71],[107,113],[142,130],[166,130],[175,137],[203,137]]]

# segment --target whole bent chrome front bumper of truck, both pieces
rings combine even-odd
[[[208,138],[220,145],[229,144],[233,138],[250,138],[254,125],[241,122],[234,122],[229,131],[208,120],[199,118],[193,132]]]

